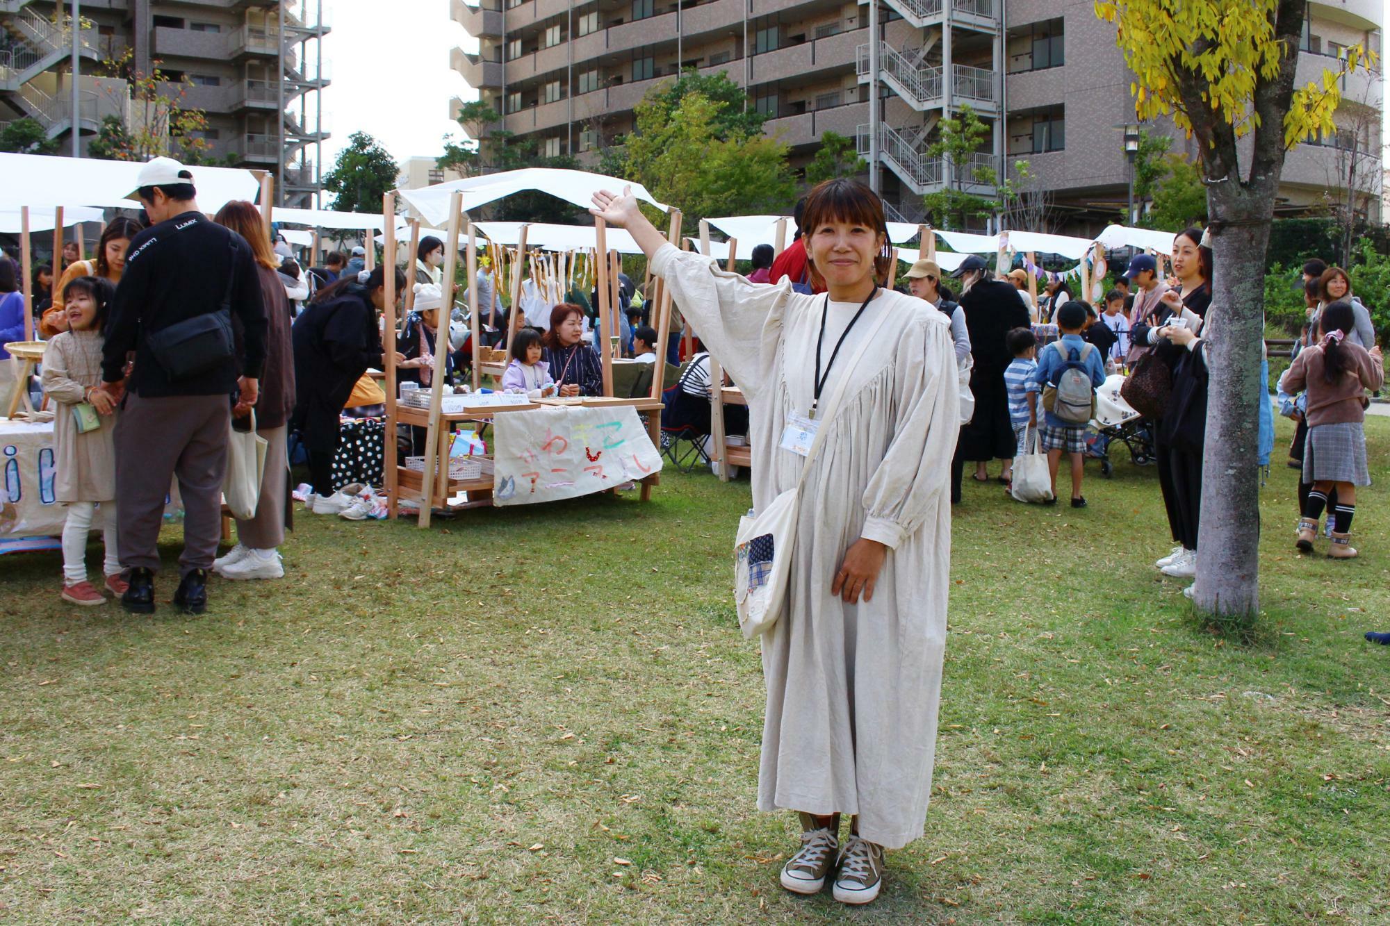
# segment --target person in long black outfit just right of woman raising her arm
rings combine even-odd
[[[951,460],[951,501],[959,502],[966,460],[976,462],[977,482],[990,480],[986,466],[992,459],[1005,462],[1001,481],[1012,477],[1017,438],[1009,420],[1009,393],[1004,388],[1004,370],[1013,362],[1005,336],[1013,328],[1027,328],[1030,320],[1019,291],[1011,282],[991,279],[990,268],[980,257],[966,257],[954,275],[960,277],[966,289],[960,296],[960,310],[970,334],[970,356],[974,357],[974,370],[970,371],[974,417],[960,428]]]

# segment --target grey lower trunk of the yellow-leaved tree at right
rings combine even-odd
[[[1193,602],[1212,615],[1254,616],[1259,609],[1259,403],[1269,402],[1259,367],[1273,200],[1213,185],[1208,202],[1215,267],[1202,335],[1211,380]]]

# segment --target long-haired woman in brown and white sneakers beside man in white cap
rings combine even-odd
[[[291,346],[293,311],[279,281],[279,257],[271,250],[270,236],[260,211],[245,200],[222,206],[214,218],[246,239],[256,257],[261,300],[265,303],[265,367],[256,402],[256,432],[265,438],[265,474],[261,477],[260,502],[250,520],[236,519],[236,545],[213,569],[222,578],[281,578],[278,548],[285,542],[285,499],[289,492],[289,453],[286,437],[289,416],[295,410],[295,353]],[[238,405],[232,416],[243,419],[250,407]]]

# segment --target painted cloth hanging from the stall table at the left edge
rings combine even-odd
[[[0,539],[63,533],[54,498],[53,423],[0,421]]]

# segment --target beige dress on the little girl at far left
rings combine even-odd
[[[97,416],[101,427],[78,434],[72,406],[88,387],[101,385],[101,343],[96,331],[64,331],[43,352],[43,391],[54,405],[53,476],[60,502],[110,502],[115,499],[115,419],[120,412]]]

